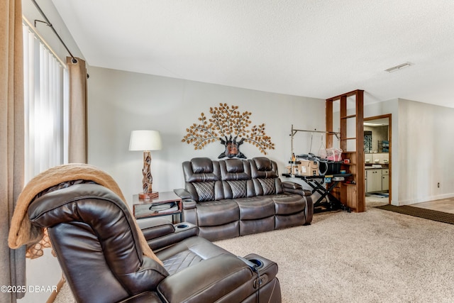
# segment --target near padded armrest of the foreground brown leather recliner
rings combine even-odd
[[[157,292],[165,302],[240,302],[253,292],[255,277],[235,255],[222,254],[166,277]]]

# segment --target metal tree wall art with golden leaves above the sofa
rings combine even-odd
[[[260,153],[275,149],[275,143],[265,134],[265,123],[252,126],[250,129],[249,111],[240,113],[238,106],[219,104],[219,107],[210,107],[211,119],[201,113],[199,124],[194,123],[186,128],[187,134],[182,142],[193,144],[194,149],[204,148],[208,143],[220,141],[226,147],[218,158],[246,158],[240,152],[240,145],[247,142],[255,145]]]

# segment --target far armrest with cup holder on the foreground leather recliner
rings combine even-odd
[[[138,226],[142,230],[148,246],[155,252],[183,241],[185,238],[199,235],[199,228],[194,224],[188,222],[172,224],[163,218],[139,219]]]

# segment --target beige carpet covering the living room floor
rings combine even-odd
[[[454,302],[454,226],[377,205],[216,244],[275,260],[282,302]]]

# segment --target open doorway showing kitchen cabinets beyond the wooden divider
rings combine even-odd
[[[392,199],[392,119],[391,114],[364,118],[365,194]],[[387,194],[387,197],[386,197]],[[381,198],[380,198],[381,197]],[[375,201],[377,201],[375,199]],[[386,202],[386,201],[384,201]]]

